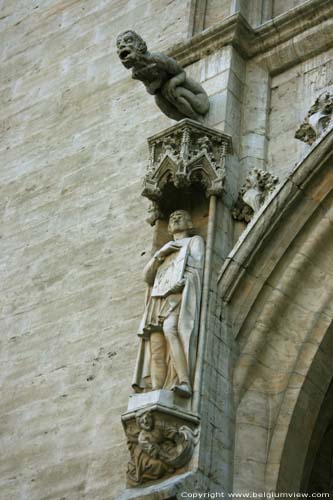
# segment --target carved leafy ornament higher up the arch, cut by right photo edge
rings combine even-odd
[[[311,146],[327,129],[332,112],[333,95],[329,92],[320,94],[296,131],[295,138]]]

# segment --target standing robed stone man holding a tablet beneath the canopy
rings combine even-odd
[[[182,397],[192,395],[205,254],[203,239],[191,236],[192,230],[188,212],[173,212],[173,240],[144,269],[150,288],[139,329],[136,392],[169,389]]]

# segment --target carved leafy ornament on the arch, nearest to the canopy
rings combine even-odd
[[[239,191],[238,199],[232,210],[233,218],[249,222],[274,191],[278,182],[278,177],[266,170],[257,168],[251,170]]]

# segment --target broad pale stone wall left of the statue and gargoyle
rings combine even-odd
[[[115,36],[166,47],[187,2],[1,7],[1,498],[110,498],[151,247],[146,137],[170,124]]]

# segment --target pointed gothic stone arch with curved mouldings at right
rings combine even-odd
[[[234,491],[300,491],[333,377],[333,130],[225,262],[234,369]]]

